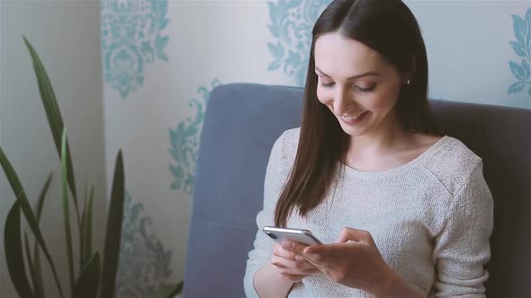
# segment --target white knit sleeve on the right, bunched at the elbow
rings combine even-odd
[[[450,202],[437,235],[435,297],[485,297],[483,284],[489,274],[484,266],[491,258],[492,224],[491,191],[479,162]]]

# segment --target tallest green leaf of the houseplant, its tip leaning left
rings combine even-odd
[[[37,54],[33,46],[31,46],[30,41],[28,41],[28,39],[26,39],[25,37],[23,37],[23,39],[33,61],[33,68],[35,70],[35,75],[37,76],[37,83],[39,84],[40,99],[42,101],[42,104],[44,105],[46,117],[48,118],[49,122],[49,128],[51,130],[51,134],[53,136],[53,140],[55,142],[58,155],[60,157],[61,134],[63,132],[63,118],[61,117],[61,113],[58,108],[58,102],[55,96],[55,92],[53,91],[51,83],[49,82],[49,76],[46,72],[46,69],[42,65],[42,62],[40,61],[39,55]],[[74,169],[70,156],[71,154],[69,146],[67,145],[67,179],[68,185],[72,190],[74,204],[76,206],[77,223],[79,225],[80,217],[79,206],[77,206],[76,180],[74,178]]]

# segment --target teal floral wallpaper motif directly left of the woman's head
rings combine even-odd
[[[311,30],[330,0],[280,0],[267,2],[271,24],[267,25],[276,42],[267,47],[275,61],[267,70],[282,67],[284,74],[304,85],[311,48]]]

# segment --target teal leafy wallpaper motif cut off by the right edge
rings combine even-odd
[[[531,96],[531,82],[529,82],[529,75],[531,74],[529,69],[531,62],[531,7],[527,9],[524,19],[516,14],[513,14],[512,17],[516,40],[509,41],[509,44],[518,57],[522,58],[522,61],[509,61],[510,71],[518,79],[518,82],[513,83],[508,92],[518,93],[528,88],[527,94]]]

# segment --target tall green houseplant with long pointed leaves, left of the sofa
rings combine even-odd
[[[52,176],[51,174],[49,175],[48,180],[46,180],[44,187],[40,191],[36,206],[32,208],[18,175],[0,146],[0,163],[16,197],[4,226],[4,249],[9,276],[13,282],[14,289],[20,297],[45,297],[41,274],[40,254],[42,253],[52,271],[61,298],[114,297],[125,197],[125,178],[121,150],[117,153],[115,160],[103,254],[100,254],[98,250],[94,250],[92,244],[94,185],[90,188],[90,192],[85,193],[83,200],[81,200],[79,193],[76,191],[76,180],[67,141],[67,129],[63,124],[58,102],[49,82],[49,76],[31,43],[25,38],[24,42],[30,51],[39,84],[40,99],[46,111],[49,127],[61,162],[62,206],[67,242],[67,269],[70,291],[65,293],[64,288],[60,285],[57,268],[39,227],[42,207],[44,206]],[[75,224],[73,224],[74,231],[70,221],[70,203],[73,203],[72,207],[76,217]],[[28,232],[22,231],[21,212],[34,238],[32,247],[28,239]],[[77,232],[79,239],[79,253],[76,260],[74,260],[72,232]],[[75,264],[78,264],[77,271],[75,270]],[[26,272],[26,267],[29,268],[29,272]],[[164,288],[161,293],[157,294],[157,297],[172,297],[180,292],[182,285],[183,283],[181,282]]]

